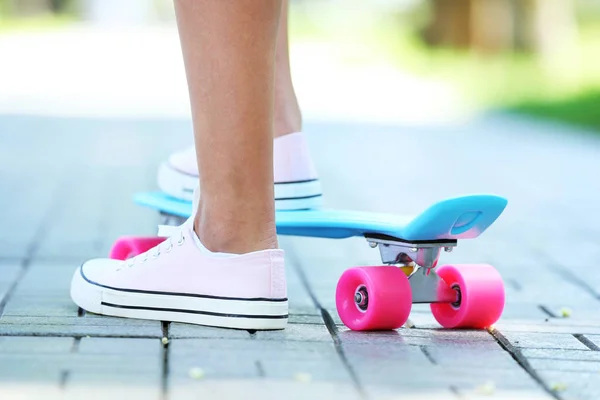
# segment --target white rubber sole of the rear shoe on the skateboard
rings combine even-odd
[[[158,187],[175,198],[192,201],[198,177],[183,173],[164,162],[158,169]],[[277,182],[275,191],[276,210],[304,210],[319,208],[322,204],[321,182],[309,179],[296,182]]]

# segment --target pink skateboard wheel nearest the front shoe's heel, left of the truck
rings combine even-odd
[[[356,267],[345,271],[335,302],[342,322],[355,331],[400,328],[410,315],[412,291],[398,267]]]

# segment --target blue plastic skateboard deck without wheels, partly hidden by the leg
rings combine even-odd
[[[161,192],[138,193],[134,202],[181,218],[189,218],[190,202]],[[389,236],[401,241],[473,239],[481,235],[506,208],[500,196],[479,194],[442,200],[416,216],[337,209],[277,211],[277,233],[289,236],[343,239]]]

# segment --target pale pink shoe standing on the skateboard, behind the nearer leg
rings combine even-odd
[[[275,209],[301,210],[321,205],[321,183],[303,133],[296,132],[273,141]],[[178,199],[191,201],[198,186],[194,148],[177,152],[161,164],[159,188]]]

